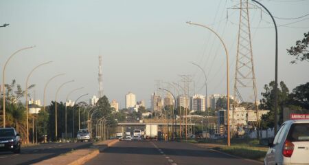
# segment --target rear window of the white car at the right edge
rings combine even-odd
[[[297,123],[290,127],[288,140],[291,142],[309,141],[309,123]]]

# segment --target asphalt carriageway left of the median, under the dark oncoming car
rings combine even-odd
[[[0,152],[0,164],[34,164],[42,160],[67,153],[72,149],[86,148],[91,142],[84,143],[50,143],[21,148],[21,153]]]

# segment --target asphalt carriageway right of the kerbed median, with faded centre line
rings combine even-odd
[[[118,142],[94,157],[91,164],[262,164],[180,142]]]

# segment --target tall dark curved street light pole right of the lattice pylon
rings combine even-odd
[[[269,10],[264,6],[262,5],[262,3],[258,2],[258,1],[255,1],[255,0],[252,0],[254,1],[255,3],[258,3],[259,5],[261,5],[267,12],[268,14],[271,16],[271,19],[273,20],[273,24],[275,25],[275,34],[276,34],[276,39],[275,39],[275,92],[274,92],[274,95],[275,95],[275,104],[274,104],[274,107],[275,107],[275,133],[277,133],[277,122],[278,122],[278,119],[277,119],[277,107],[278,107],[278,31],[277,31],[277,24],[276,24],[276,21],[275,19],[273,18],[273,15],[271,14],[271,12],[269,12]],[[258,122],[258,121],[257,121]]]

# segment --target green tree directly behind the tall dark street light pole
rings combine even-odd
[[[278,105],[279,105],[279,124],[283,122],[283,114],[282,111],[284,107],[288,107],[289,105],[289,91],[288,87],[284,84],[283,81],[280,82],[279,88],[277,88],[278,94]],[[260,100],[260,109],[269,109],[270,112],[266,115],[262,115],[262,128],[273,128],[274,120],[275,120],[275,111],[274,111],[274,102],[275,102],[275,81],[271,81],[269,85],[264,85],[264,92],[262,92],[263,98]]]

